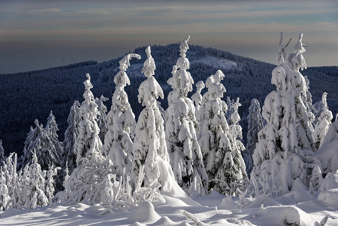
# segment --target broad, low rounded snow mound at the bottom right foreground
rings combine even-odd
[[[273,216],[273,217],[272,217]],[[251,215],[257,225],[313,225],[309,214],[295,206],[261,207]]]

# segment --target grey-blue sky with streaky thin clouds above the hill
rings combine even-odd
[[[0,0],[0,74],[190,44],[276,63],[303,33],[308,66],[338,65],[338,1]],[[64,61],[62,62],[62,58]]]

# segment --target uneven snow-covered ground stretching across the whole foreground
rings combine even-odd
[[[103,210],[99,204],[65,206],[53,203],[47,207],[32,209],[30,212],[10,208],[0,214],[0,225],[313,226],[319,225],[318,222],[328,216],[325,226],[338,226],[338,189],[326,190],[316,200],[294,205],[276,204],[272,199],[260,197],[241,210],[236,205],[238,198],[231,200],[215,191],[203,198],[194,198],[194,201],[188,197],[177,199],[169,194],[165,194],[164,198],[166,203],[156,202],[152,205],[144,201],[138,208],[106,215],[99,215]]]

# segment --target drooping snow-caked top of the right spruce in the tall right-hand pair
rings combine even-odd
[[[290,54],[287,59],[287,64],[291,68],[293,72],[299,71],[299,68],[303,70],[306,69],[306,63],[303,55],[301,53],[305,52],[305,48],[303,47],[303,43],[301,43],[301,39],[303,38],[303,34],[299,34],[299,39],[297,44],[293,47],[294,53]]]

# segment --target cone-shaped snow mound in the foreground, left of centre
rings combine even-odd
[[[161,216],[155,212],[152,203],[150,201],[143,201],[139,204],[135,212],[126,219],[126,222],[152,224],[158,221],[160,218]]]

